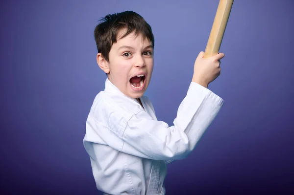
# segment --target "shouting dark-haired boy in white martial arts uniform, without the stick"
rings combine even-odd
[[[219,53],[200,52],[174,126],[157,121],[143,96],[153,70],[154,37],[137,13],[107,15],[95,28],[97,63],[107,74],[86,122],[83,143],[98,190],[109,195],[164,195],[166,164],[187,157],[223,105],[207,89],[220,75]]]

